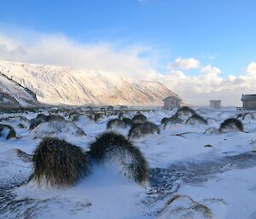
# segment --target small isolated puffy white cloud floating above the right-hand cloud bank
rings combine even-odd
[[[194,58],[183,59],[178,57],[173,63],[169,64],[167,67],[169,69],[183,69],[189,70],[193,68],[200,68],[200,61],[195,60]]]

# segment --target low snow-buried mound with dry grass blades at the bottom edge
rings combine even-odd
[[[214,219],[213,210],[225,205],[222,199],[204,199],[196,202],[186,195],[177,195],[167,201],[166,206],[160,211],[158,219]],[[212,208],[211,208],[212,207]]]

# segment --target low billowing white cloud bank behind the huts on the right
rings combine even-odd
[[[148,79],[160,81],[188,103],[207,106],[209,100],[219,99],[224,106],[241,106],[242,94],[256,93],[256,63],[250,63],[240,76],[224,78],[219,68],[204,66],[195,76],[174,70],[166,74],[151,70]]]

